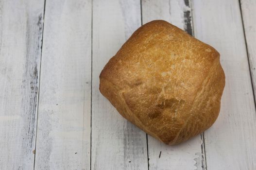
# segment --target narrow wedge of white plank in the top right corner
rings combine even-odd
[[[240,0],[240,5],[256,101],[256,0]]]

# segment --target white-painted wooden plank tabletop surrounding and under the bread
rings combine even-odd
[[[154,19],[216,48],[226,75],[215,124],[176,146],[99,92]],[[255,96],[256,0],[0,0],[0,170],[256,170]]]

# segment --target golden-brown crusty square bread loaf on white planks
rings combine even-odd
[[[163,20],[137,29],[100,75],[119,113],[166,144],[214,123],[224,85],[218,51]]]

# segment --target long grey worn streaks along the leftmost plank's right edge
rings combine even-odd
[[[24,138],[22,145],[27,148],[26,152],[31,153],[35,149],[36,121],[39,89],[39,72],[42,48],[42,13],[38,19],[27,17],[26,19],[26,58],[22,80],[22,103],[26,104],[23,108],[22,116],[28,122],[24,127]],[[35,33],[35,34],[34,34]],[[35,151],[33,151],[35,154]]]

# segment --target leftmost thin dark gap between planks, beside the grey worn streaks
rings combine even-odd
[[[37,115],[36,115],[36,128],[35,128],[35,145],[34,145],[34,166],[35,166],[35,155],[36,155],[36,137],[37,137],[37,122],[38,122],[38,111],[39,111],[39,96],[40,96],[40,79],[41,79],[41,64],[42,64],[42,53],[43,53],[43,37],[44,37],[44,21],[45,21],[45,6],[46,0],[44,0],[44,14],[43,14],[43,25],[42,25],[42,39],[41,39],[41,56],[40,56],[40,68],[39,68],[39,79],[38,79],[38,100],[37,100]]]

